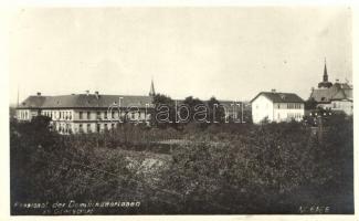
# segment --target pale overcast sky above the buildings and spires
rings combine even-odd
[[[10,27],[10,102],[59,95],[307,98],[323,77],[352,82],[348,8],[22,9]]]

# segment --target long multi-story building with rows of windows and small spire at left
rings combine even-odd
[[[34,116],[49,116],[53,129],[61,134],[104,131],[124,122],[149,123],[154,95],[152,84],[149,96],[38,93],[19,104],[17,118],[30,122]]]

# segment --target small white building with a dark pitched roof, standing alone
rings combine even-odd
[[[304,101],[294,93],[261,92],[251,103],[254,124],[263,120],[299,122],[304,116]]]

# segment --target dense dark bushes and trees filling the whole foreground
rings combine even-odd
[[[298,213],[319,206],[352,213],[352,118],[340,115],[315,133],[293,122],[188,124],[180,131],[124,124],[61,136],[45,117],[11,122],[11,203],[135,198],[140,209],[96,212]],[[154,152],[169,160],[147,176],[142,162]]]

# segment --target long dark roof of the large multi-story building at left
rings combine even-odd
[[[19,105],[19,108],[107,108],[119,103],[122,107],[146,107],[146,104],[152,104],[150,96],[133,95],[60,95],[60,96],[29,96]]]

